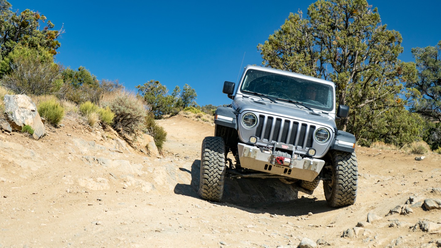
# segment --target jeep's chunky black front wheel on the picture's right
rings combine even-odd
[[[349,206],[357,198],[358,168],[355,153],[333,150],[325,174],[332,180],[323,181],[326,202],[331,207]]]

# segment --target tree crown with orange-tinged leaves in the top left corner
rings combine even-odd
[[[17,44],[30,48],[42,48],[52,55],[60,47],[57,38],[64,30],[53,30],[54,24],[38,12],[26,9],[22,12],[10,10],[11,4],[6,0],[0,3],[0,46],[1,55],[7,56]],[[41,24],[45,23],[42,27]]]

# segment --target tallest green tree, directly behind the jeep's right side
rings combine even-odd
[[[351,108],[339,128],[370,143],[377,134],[366,125],[381,126],[376,122],[388,119],[385,110],[405,104],[399,99],[400,80],[412,71],[411,64],[398,60],[401,42],[401,34],[387,30],[366,0],[318,0],[306,18],[301,11],[291,13],[258,49],[265,66],[335,82],[337,103]]]

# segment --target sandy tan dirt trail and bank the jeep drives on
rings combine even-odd
[[[409,228],[440,223],[441,210],[385,216],[412,195],[441,198],[431,192],[441,187],[440,155],[415,161],[358,147],[350,207],[328,207],[321,185],[305,195],[248,179],[228,180],[223,202],[213,203],[197,189],[200,144],[214,127],[183,116],[158,123],[168,132],[159,158],[114,152],[114,140],[75,118],[39,141],[0,135],[0,247],[297,247],[304,237],[321,239],[318,247],[436,247],[441,239],[441,229]],[[341,237],[368,213],[382,218]]]

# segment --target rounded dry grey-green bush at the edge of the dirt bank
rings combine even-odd
[[[115,113],[112,127],[127,135],[138,135],[138,132],[144,131],[147,111],[142,101],[123,91],[113,96],[102,102],[105,107],[108,106]]]

